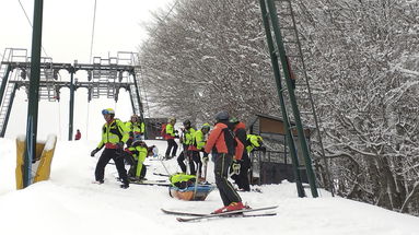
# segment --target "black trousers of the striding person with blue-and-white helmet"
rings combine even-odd
[[[101,181],[105,175],[105,167],[110,160],[114,160],[116,169],[118,171],[119,178],[124,184],[129,184],[127,171],[125,169],[124,157],[121,156],[121,150],[105,149],[102,155],[98,157],[94,176],[96,181]]]

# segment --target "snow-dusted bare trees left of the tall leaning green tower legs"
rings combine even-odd
[[[179,1],[150,33],[141,62],[152,102],[170,107],[163,115],[212,121],[221,109],[243,119],[278,114],[257,1]]]

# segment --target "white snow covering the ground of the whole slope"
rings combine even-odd
[[[208,213],[222,205],[218,191],[206,201],[171,198],[166,187],[131,185],[120,189],[115,165],[108,164],[105,184],[92,184],[100,154],[91,157],[96,142],[58,141],[47,181],[15,190],[15,141],[0,139],[0,234],[291,234],[291,235],[414,235],[419,219],[362,202],[330,197],[298,198],[295,185],[282,183],[259,187],[263,193],[241,192],[251,207],[278,204],[276,216],[213,219],[179,223],[160,208]],[[164,141],[147,141],[162,153]],[[160,161],[147,160],[147,177],[164,177]],[[178,171],[175,160],[164,161],[171,173]],[[213,164],[209,180],[213,181]],[[310,190],[306,189],[307,195]]]

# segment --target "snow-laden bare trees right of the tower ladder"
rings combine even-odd
[[[299,2],[338,192],[418,213],[418,2]]]

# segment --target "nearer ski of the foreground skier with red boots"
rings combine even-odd
[[[245,212],[254,212],[254,211],[264,211],[264,210],[271,210],[276,209],[278,205],[272,205],[272,207],[266,207],[266,208],[256,208],[256,209],[243,209],[243,210],[237,210],[237,211],[228,211],[219,214],[203,214],[203,215],[196,215],[195,218],[176,218],[178,222],[190,222],[190,221],[199,221],[202,219],[209,219],[209,218],[244,218],[244,216],[269,216],[269,215],[276,215],[277,213],[268,213],[268,214],[249,214],[245,215],[243,213]],[[185,214],[187,215],[187,214]],[[191,215],[194,216],[194,215]]]

